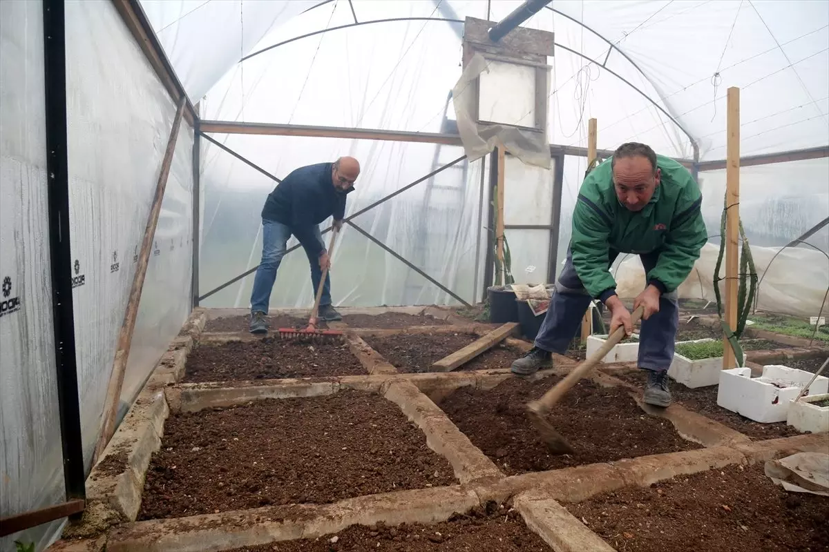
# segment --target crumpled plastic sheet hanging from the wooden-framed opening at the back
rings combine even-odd
[[[550,142],[547,141],[546,132],[531,132],[507,124],[477,122],[475,94],[478,87],[473,84],[484,71],[489,70],[489,64],[482,55],[473,55],[452,89],[455,117],[458,118],[458,133],[461,135],[463,149],[469,161],[487,155],[495,149],[498,142],[501,142],[512,155],[527,165],[549,169]],[[550,90],[549,74],[546,90]],[[504,99],[509,101],[509,98]]]

